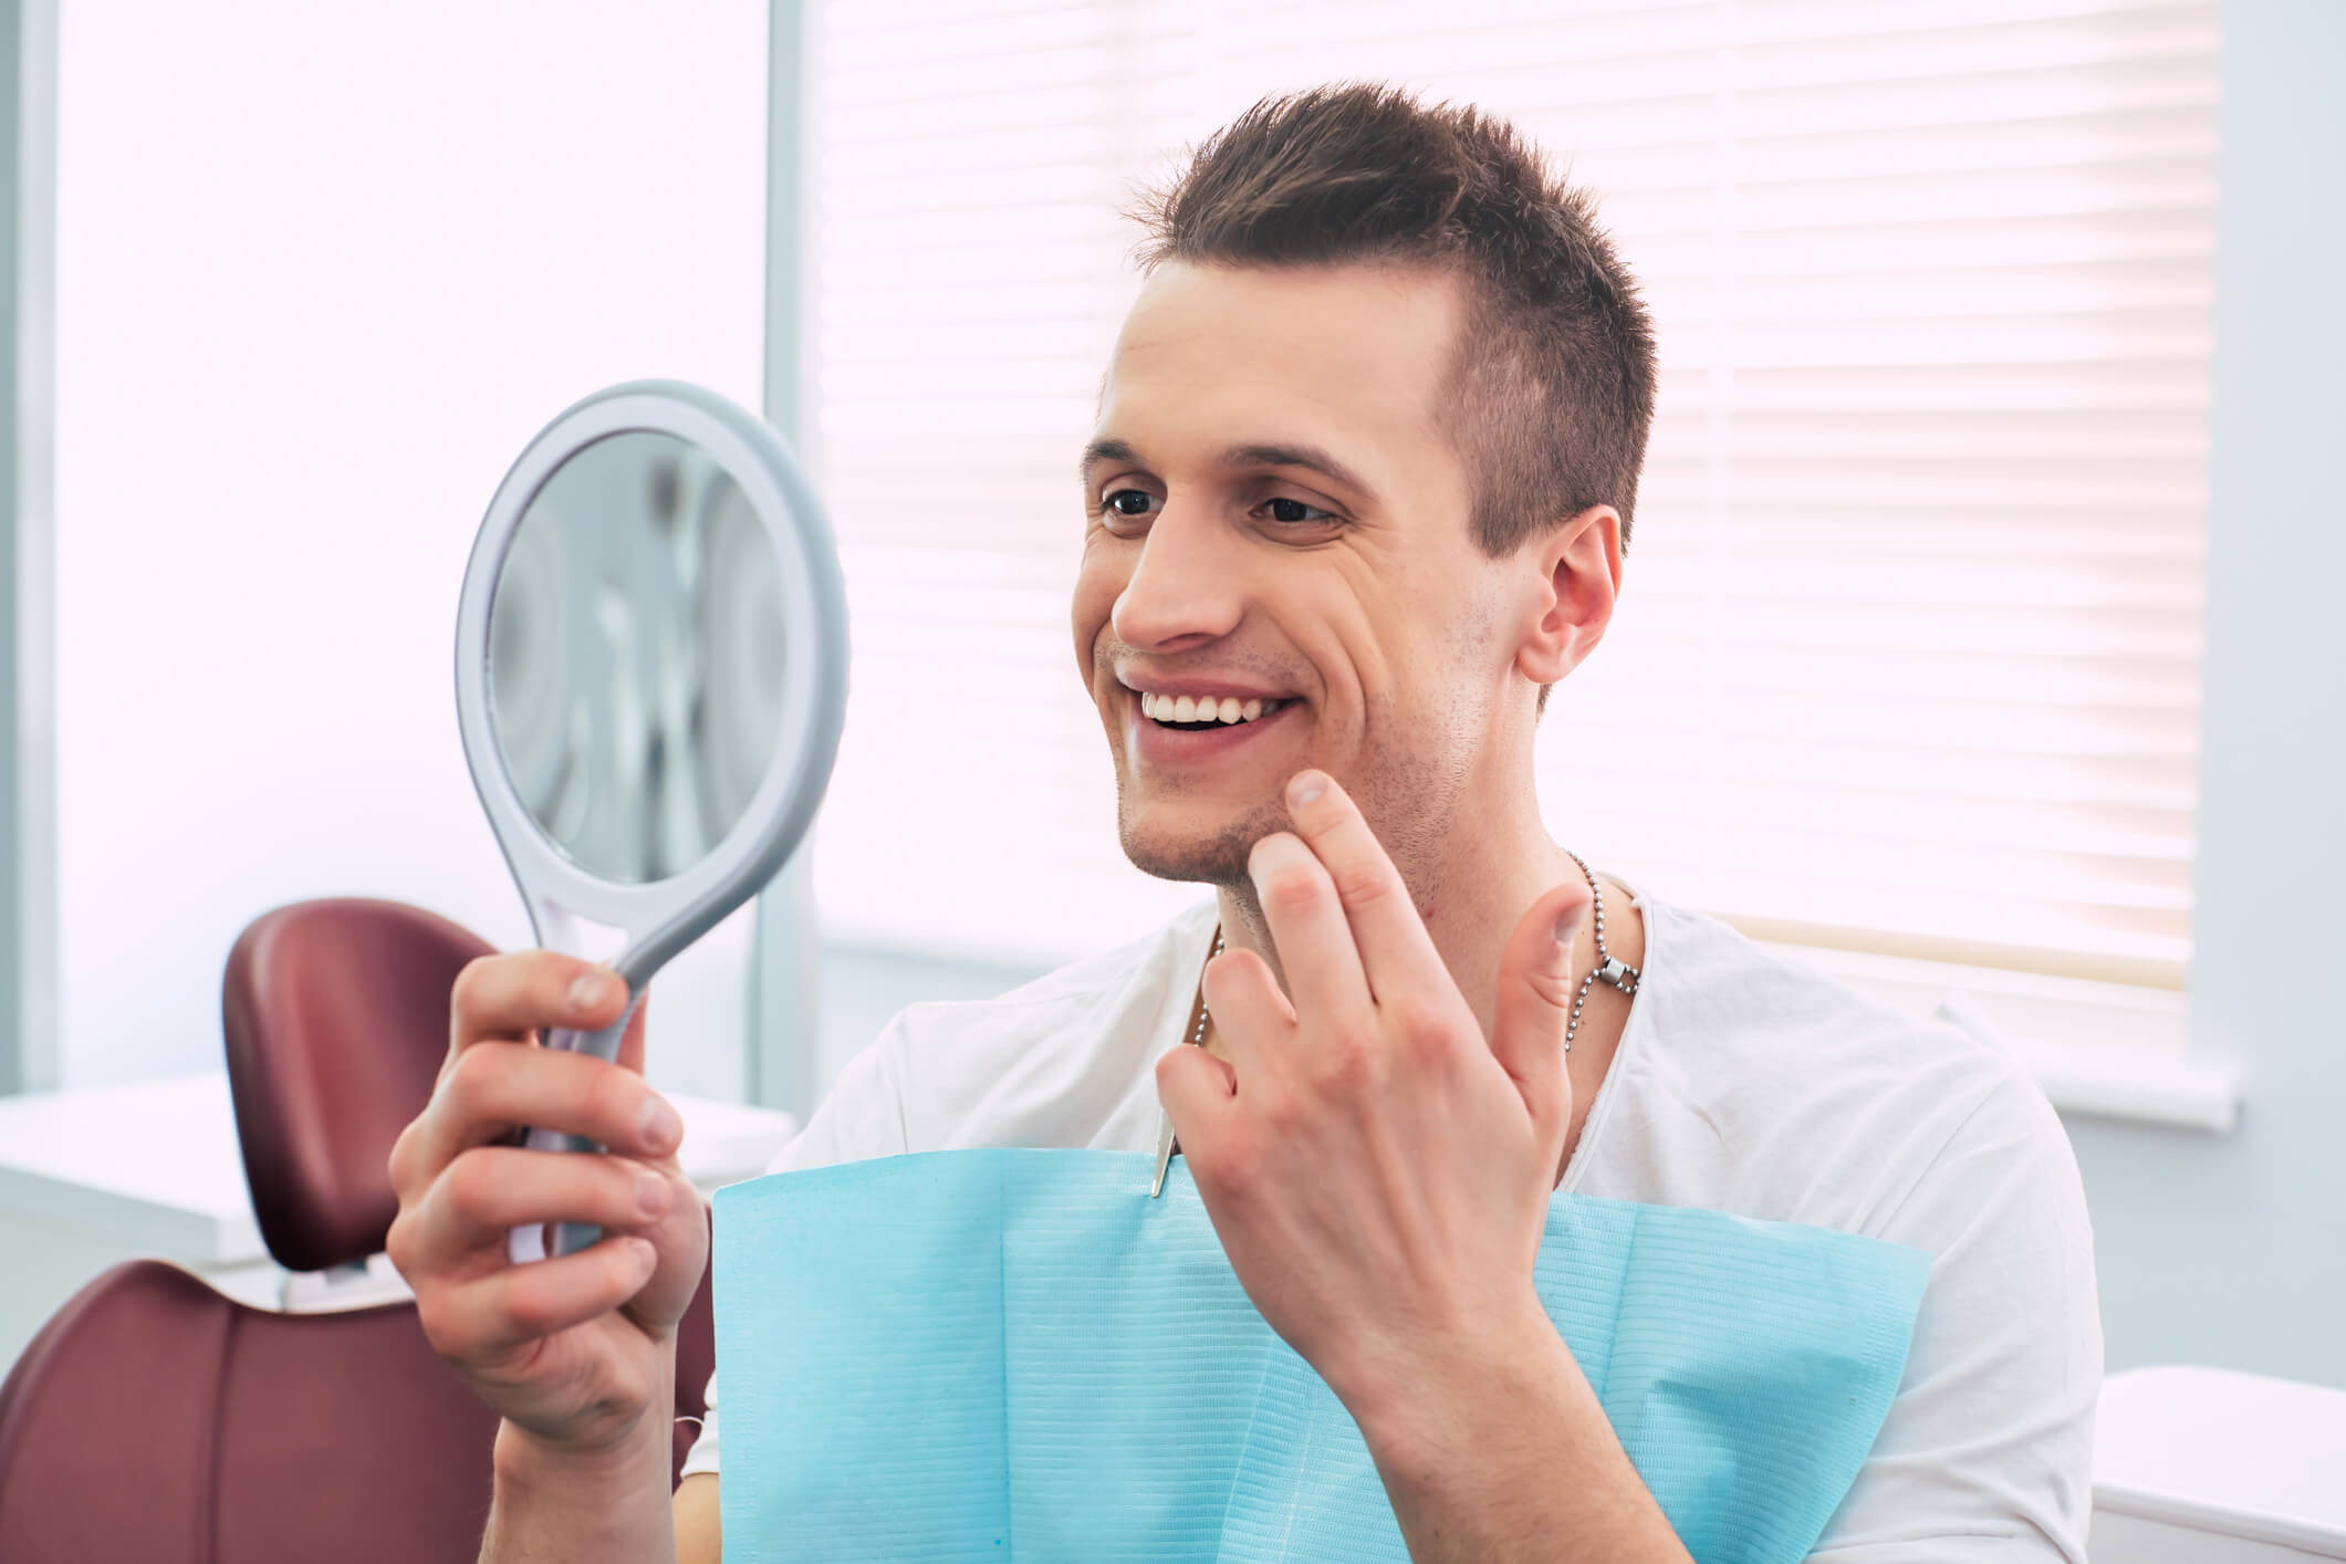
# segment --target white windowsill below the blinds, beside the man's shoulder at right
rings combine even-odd
[[[1813,945],[1769,950],[1893,1011],[2006,1048],[2062,1114],[2229,1133],[2240,1072],[2184,1048],[2179,990],[1942,966]]]

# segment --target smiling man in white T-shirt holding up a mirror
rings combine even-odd
[[[1417,1559],[1687,1557],[1532,1294],[1555,1186],[1907,1243],[1933,1273],[1905,1381],[1816,1557],[2083,1559],[2100,1330],[2043,1097],[1541,825],[1534,725],[1612,617],[1654,403],[1588,204],[1504,124],[1358,87],[1257,106],[1145,220],[1074,650],[1126,854],[1215,898],[906,1011],[777,1168],[1147,1151],[1168,1116]],[[676,1118],[640,1027],[619,1067],[493,1046],[622,1004],[547,952],[476,964],[392,1156],[392,1254],[504,1414],[483,1557],[671,1548],[673,1325],[706,1259]],[[493,1144],[511,1123],[612,1151]],[[507,1266],[504,1229],[544,1219],[615,1236]],[[718,1548],[711,1412],[683,1559]]]

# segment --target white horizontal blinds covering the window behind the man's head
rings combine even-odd
[[[1098,5],[952,38],[922,33],[964,49],[924,84],[922,124],[962,162],[927,195],[917,176],[891,188],[943,230],[922,288],[889,298],[856,230],[823,223],[823,453],[847,535],[899,549],[859,556],[859,642],[910,600],[891,582],[924,544],[1030,560],[1018,638],[1053,628],[1058,666],[978,635],[957,664],[1072,713],[1049,732],[1074,781],[1065,814],[1037,802],[1042,835],[1004,823],[997,865],[1098,875],[1098,919],[1124,914],[1103,743],[1051,603],[1077,528],[1063,474],[1131,286],[1119,171],[1164,166],[1264,91],[1396,80],[1569,157],[1661,335],[1623,607],[1541,736],[1555,832],[1764,933],[2179,980],[2212,5]],[[856,80],[826,70],[833,91]],[[948,80],[1032,122],[957,120],[934,96]],[[835,98],[826,192],[903,131],[842,115]],[[917,227],[908,211],[891,220]],[[884,352],[906,356],[882,368]],[[891,375],[950,392],[891,396]],[[957,448],[936,441],[952,427]],[[969,614],[1009,603],[988,591],[948,596]],[[899,699],[863,657],[849,746],[882,743],[866,710]],[[931,790],[924,830],[985,835],[955,814],[1042,788],[1013,781],[1039,743],[976,715],[938,748],[934,706],[887,743],[969,778],[971,804]],[[852,814],[835,804],[826,835],[835,907],[870,893],[842,884],[875,863],[845,846]],[[960,933],[915,924],[899,931]]]

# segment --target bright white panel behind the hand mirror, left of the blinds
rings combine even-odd
[[[221,961],[286,900],[528,943],[457,582],[577,396],[758,406],[765,9],[63,0],[63,1083],[216,1065]],[[739,1093],[746,936],[655,987],[664,1086]]]

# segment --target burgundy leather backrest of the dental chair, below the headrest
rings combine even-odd
[[[472,1559],[495,1433],[413,1304],[277,1315],[136,1259],[0,1388],[0,1557]]]

